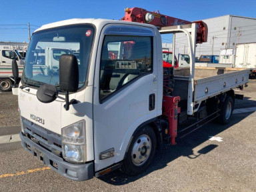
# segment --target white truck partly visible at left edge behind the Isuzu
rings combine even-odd
[[[13,73],[11,71],[11,63],[16,59],[19,65],[19,75],[22,74],[25,60],[16,49],[1,49],[0,50],[0,91],[11,91],[11,86],[14,83]]]

